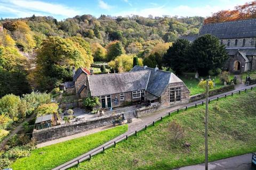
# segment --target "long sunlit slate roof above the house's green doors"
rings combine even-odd
[[[145,90],[147,88],[149,70],[90,75],[88,77],[89,87],[92,96],[102,96],[128,92],[135,90]]]

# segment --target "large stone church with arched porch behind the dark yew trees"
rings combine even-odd
[[[194,41],[211,34],[226,46],[229,55],[223,69],[233,73],[256,70],[256,19],[205,24],[197,36],[181,37]]]

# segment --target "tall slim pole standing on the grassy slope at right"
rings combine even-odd
[[[208,170],[208,101],[209,101],[209,80],[206,80],[206,105],[205,105],[205,170]]]

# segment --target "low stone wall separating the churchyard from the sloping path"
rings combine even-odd
[[[226,91],[230,91],[230,90],[234,90],[235,89],[235,85],[229,85],[229,86],[225,86],[222,88],[218,88],[215,90],[211,90],[209,91],[209,96],[214,96],[214,95],[218,95],[221,94],[222,92],[226,92]],[[189,101],[196,101],[196,100],[200,100],[205,98],[205,94],[198,94],[198,95],[194,95],[194,96],[190,96]]]

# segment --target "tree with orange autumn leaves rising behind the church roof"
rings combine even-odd
[[[256,1],[238,5],[234,10],[222,10],[213,13],[212,16],[204,20],[204,24],[227,21],[237,21],[256,18]]]

